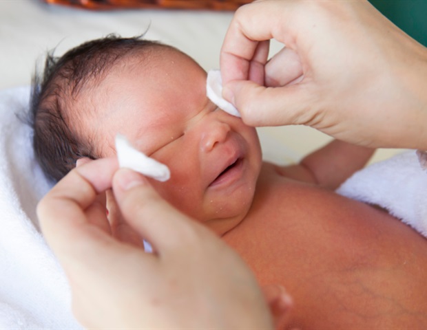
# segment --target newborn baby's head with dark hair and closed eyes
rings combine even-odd
[[[255,129],[206,96],[206,73],[174,47],[109,36],[48,58],[34,86],[34,151],[61,179],[81,157],[115,155],[121,133],[169,166],[152,184],[170,203],[222,234],[251,206],[260,172]]]

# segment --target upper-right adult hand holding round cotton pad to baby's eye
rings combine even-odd
[[[268,41],[286,47],[267,61]],[[222,95],[253,126],[427,149],[427,49],[368,1],[256,1],[222,45]]]

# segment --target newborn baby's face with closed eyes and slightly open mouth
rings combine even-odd
[[[145,61],[145,62],[144,62]],[[86,129],[96,151],[114,155],[116,133],[169,166],[171,179],[152,180],[167,201],[224,234],[247,214],[261,166],[255,129],[206,97],[206,73],[191,58],[163,50],[128,60],[96,87]]]

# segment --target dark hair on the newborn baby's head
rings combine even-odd
[[[156,41],[121,38],[110,34],[102,39],[83,43],[55,57],[48,52],[41,74],[34,74],[30,100],[30,122],[34,129],[33,146],[45,175],[55,181],[61,179],[81,157],[97,158],[90,141],[84,141],[70,125],[70,104],[78,100],[87,83],[96,83],[121,58],[140,54],[153,46],[169,47]],[[67,111],[68,110],[68,111]]]

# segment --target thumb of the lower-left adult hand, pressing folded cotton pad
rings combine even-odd
[[[194,230],[207,230],[172,207],[145,177],[132,170],[117,171],[113,191],[125,220],[160,255],[196,237]]]

